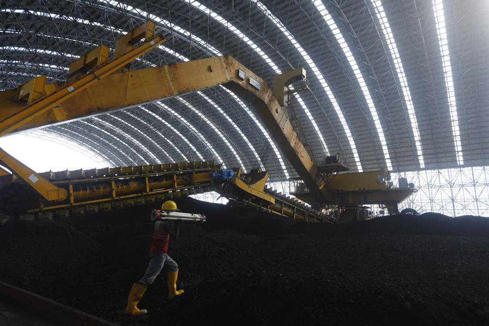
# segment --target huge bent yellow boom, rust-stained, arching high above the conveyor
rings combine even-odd
[[[124,62],[119,62],[114,69]],[[84,78],[90,82],[84,84],[83,88],[78,87],[78,82]],[[93,78],[92,74],[79,79],[75,85],[77,88],[69,81],[45,85],[44,89],[56,89],[52,93],[54,97],[50,99],[51,96],[47,96],[35,102],[35,115],[29,117],[25,115],[34,110],[32,105],[24,107],[18,101],[8,100],[18,90],[0,92],[0,116],[10,113],[0,120],[0,135],[119,110],[221,84],[255,106],[275,141],[311,192],[317,194],[319,201],[327,201],[329,192],[324,187],[324,180],[318,175],[277,98],[262,78],[231,56],[116,72],[105,75],[96,83]],[[72,91],[74,94],[67,91],[71,87],[77,90]],[[64,97],[61,97],[62,94]],[[59,106],[53,109],[55,104]],[[53,112],[55,110],[58,114]],[[23,120],[21,117],[24,117]]]

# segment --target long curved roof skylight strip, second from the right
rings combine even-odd
[[[389,47],[389,52],[396,67],[397,77],[401,85],[401,92],[404,97],[404,102],[406,103],[406,108],[408,108],[408,116],[411,122],[411,129],[413,130],[414,142],[416,147],[416,152],[418,154],[419,165],[421,169],[424,169],[424,158],[423,149],[421,146],[421,137],[419,134],[418,122],[416,119],[416,114],[414,111],[413,101],[411,100],[411,92],[408,86],[408,80],[404,74],[404,68],[402,67],[401,59],[399,57],[399,52],[397,51],[397,45],[394,41],[394,36],[392,35],[391,28],[389,26],[389,21],[387,20],[384,8],[380,0],[371,0],[372,5],[375,9],[375,14],[378,21],[381,23],[382,32],[386,39]]]

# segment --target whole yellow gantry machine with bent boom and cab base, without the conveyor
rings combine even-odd
[[[144,42],[141,43],[143,39]],[[164,41],[165,38],[161,35],[154,35],[154,23],[148,21],[116,42],[112,60],[108,60],[108,48],[101,45],[70,65],[66,82],[46,84],[45,76],[41,76],[35,77],[16,89],[0,92],[0,136],[82,119],[222,85],[256,108],[268,131],[307,186],[307,193],[302,193],[306,202],[318,206],[358,206],[365,202],[362,198],[357,198],[359,190],[370,191],[369,201],[389,202],[389,205],[393,200],[398,201],[400,197],[404,196],[404,194],[394,196],[395,199],[391,198],[393,196],[388,196],[389,200],[386,201],[384,200],[386,194],[391,193],[392,195],[395,191],[389,189],[385,182],[372,183],[366,174],[361,173],[347,176],[346,174],[345,176],[340,176],[340,174],[325,176],[316,169],[282,105],[288,85],[297,77],[305,77],[304,69],[296,69],[276,76],[275,80],[278,81],[274,85],[277,89],[276,94],[262,78],[231,56],[139,70],[128,69],[129,62]],[[138,43],[140,44],[133,47]],[[8,159],[8,154],[3,151],[1,153]],[[13,161],[9,167],[14,173],[21,169],[20,165]],[[29,172],[23,174],[28,175]],[[67,194],[63,190],[56,190],[58,187],[56,182],[51,183],[39,175],[35,178],[40,181],[29,183],[29,176],[27,179],[22,176],[22,179],[34,187],[46,200],[63,201],[64,196],[68,193],[70,196],[75,196],[71,189],[64,189],[68,191]],[[234,183],[240,184],[239,182],[235,180]],[[141,186],[143,185],[144,182],[141,183]],[[263,187],[261,189],[256,186],[253,188],[244,183],[241,186],[248,187],[250,192],[255,192],[259,198],[267,198]],[[108,185],[105,188],[106,191],[110,190]],[[397,195],[399,194],[397,192]],[[274,204],[270,200],[268,203]],[[397,202],[392,207],[397,210]]]

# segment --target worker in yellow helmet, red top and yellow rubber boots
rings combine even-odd
[[[161,206],[161,210],[176,211],[177,204],[168,200]],[[178,265],[167,254],[168,242],[170,236],[177,240],[179,233],[179,222],[156,220],[153,231],[153,243],[150,249],[150,261],[146,273],[138,283],[132,285],[129,297],[127,298],[127,307],[125,312],[130,315],[143,315],[148,313],[146,309],[140,310],[137,305],[146,291],[146,288],[153,283],[161,269],[165,266],[168,270],[168,297],[173,298],[183,293],[183,290],[177,291]]]

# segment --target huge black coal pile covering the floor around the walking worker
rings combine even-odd
[[[166,274],[125,315],[149,260],[155,207],[0,228],[0,280],[121,325],[487,325],[489,219],[396,215],[346,225],[177,200],[207,216],[182,225]]]

